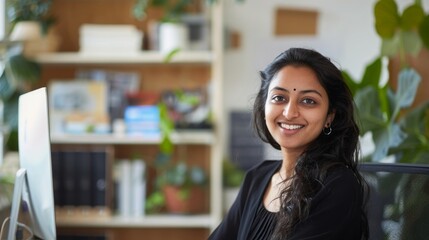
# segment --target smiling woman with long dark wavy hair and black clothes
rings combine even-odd
[[[261,80],[254,127],[282,159],[249,170],[209,239],[367,239],[359,129],[341,71],[314,50],[292,48]]]

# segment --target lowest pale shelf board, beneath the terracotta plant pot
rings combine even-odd
[[[209,228],[213,225],[210,215],[150,215],[146,217],[57,217],[59,227],[94,228]]]

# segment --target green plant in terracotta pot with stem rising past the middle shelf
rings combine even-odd
[[[198,166],[190,166],[186,160],[173,159],[174,144],[171,134],[174,123],[171,120],[165,104],[158,104],[160,108],[162,141],[159,145],[159,154],[155,159],[155,186],[154,191],[146,200],[148,213],[160,212],[166,209],[169,213],[197,213],[203,209],[203,187],[207,184],[204,170]]]

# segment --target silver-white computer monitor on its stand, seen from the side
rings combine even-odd
[[[28,212],[35,238],[56,239],[51,147],[46,88],[19,97],[16,174],[8,240],[15,239],[20,206]]]

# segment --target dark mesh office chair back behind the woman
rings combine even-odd
[[[429,236],[429,164],[363,163],[369,185],[369,239]]]

